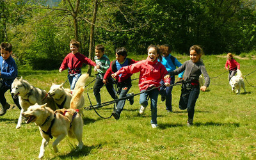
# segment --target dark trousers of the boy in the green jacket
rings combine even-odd
[[[108,90],[109,95],[112,97],[112,99],[116,99],[116,92],[111,80],[111,77],[108,78],[108,82],[106,84],[106,88]],[[97,77],[97,79],[95,80],[95,84],[93,86],[93,94],[96,98],[97,104],[101,104],[101,99],[100,99],[100,88],[102,88],[102,86],[104,86],[105,84],[102,82],[102,79],[100,79],[99,77]]]

